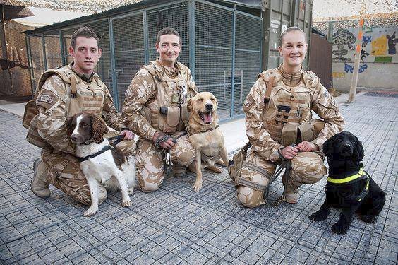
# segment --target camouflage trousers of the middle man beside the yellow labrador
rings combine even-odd
[[[174,139],[181,132],[172,136]],[[170,149],[170,156],[173,163],[188,166],[195,160],[195,150],[188,142],[188,136],[184,135],[177,139]],[[148,139],[139,139],[135,151],[135,167],[137,168],[138,184],[143,192],[152,192],[159,189],[164,179],[163,150],[155,147],[155,143]]]

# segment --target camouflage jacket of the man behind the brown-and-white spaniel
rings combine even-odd
[[[114,107],[114,102],[107,86],[100,81],[97,74],[90,83],[86,83],[71,71],[71,66],[64,66],[56,71],[64,71],[76,77],[76,98],[69,98],[64,80],[56,73],[41,80],[44,83],[35,98],[39,114],[37,131],[56,151],[74,153],[75,145],[71,143],[66,128],[69,117],[78,112],[88,111],[101,114],[107,125],[116,131],[126,129],[121,114]],[[44,74],[43,74],[44,76]],[[71,100],[69,102],[69,100]],[[66,104],[69,102],[68,106]],[[68,111],[67,111],[68,110]],[[66,113],[67,112],[67,113]]]

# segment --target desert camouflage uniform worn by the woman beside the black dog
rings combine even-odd
[[[272,86],[269,101],[265,100],[267,84]],[[285,107],[282,110],[279,107],[281,105],[289,108]],[[284,72],[282,66],[259,75],[246,97],[243,110],[246,113],[246,134],[252,147],[248,151],[246,166],[242,167],[241,178],[264,187],[267,187],[276,165],[281,163],[279,148],[291,143],[312,141],[322,150],[322,144],[326,139],[342,131],[344,126],[337,103],[320,84],[315,73],[300,71],[291,75]],[[313,124],[316,120],[312,118],[311,110],[325,122],[320,131],[316,128],[314,131]],[[290,135],[297,136],[297,130],[300,131],[301,126],[310,127],[310,136],[307,130],[306,135],[301,132],[301,139],[283,139],[282,131],[287,131],[288,135],[290,130],[290,133],[293,131]],[[256,170],[248,168],[251,164],[257,166]],[[302,184],[318,182],[326,172],[321,152],[299,152],[291,160],[289,177],[282,178],[284,189],[297,192],[297,188]],[[248,207],[265,203],[263,190],[251,187],[237,187],[237,197]]]

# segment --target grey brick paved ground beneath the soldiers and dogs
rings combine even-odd
[[[346,130],[366,149],[366,170],[387,192],[377,223],[356,216],[347,235],[330,232],[338,213],[322,223],[310,213],[324,199],[325,179],[300,189],[300,200],[256,209],[236,201],[226,172],[165,179],[159,191],[132,196],[123,208],[109,194],[92,218],[52,187],[49,199],[30,191],[38,148],[25,141],[20,117],[0,112],[0,257],[5,264],[396,264],[398,243],[398,100],[363,95],[342,105]],[[271,196],[282,193],[280,180]]]

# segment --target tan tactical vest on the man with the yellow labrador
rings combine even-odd
[[[170,78],[155,61],[143,66],[155,79],[156,91],[140,110],[140,114],[152,127],[165,133],[185,131],[188,124],[187,103],[192,88],[188,86],[186,66],[178,62],[176,64],[180,69],[176,78]]]

